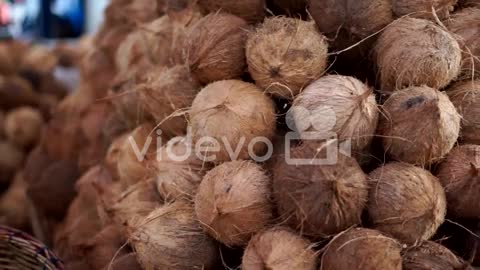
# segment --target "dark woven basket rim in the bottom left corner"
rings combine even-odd
[[[0,226],[0,269],[62,270],[63,263],[30,235]]]

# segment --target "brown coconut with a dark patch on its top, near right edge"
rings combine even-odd
[[[435,89],[410,87],[383,105],[378,133],[391,157],[417,165],[443,158],[455,145],[460,115],[448,96]]]

